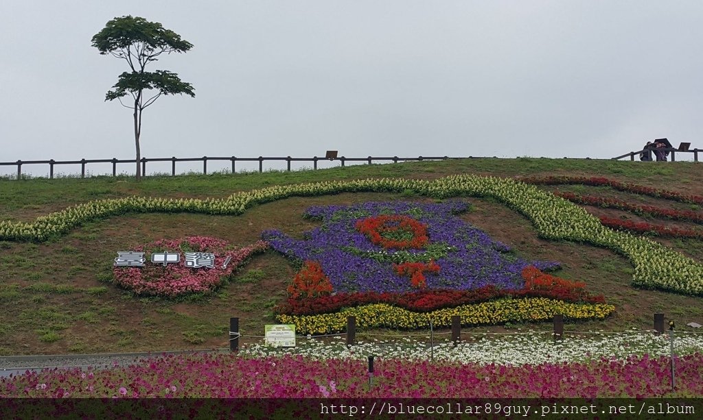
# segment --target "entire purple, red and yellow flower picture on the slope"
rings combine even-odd
[[[279,320],[325,333],[343,330],[351,315],[364,327],[417,328],[455,315],[482,325],[612,313],[585,284],[541,271],[557,262],[524,261],[456,216],[466,210],[461,201],[312,207],[304,217],[322,225],[303,240],[264,231],[273,250],[305,264]]]

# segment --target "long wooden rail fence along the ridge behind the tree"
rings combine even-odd
[[[469,156],[469,158],[474,158],[475,156]],[[176,175],[176,162],[202,162],[202,173],[207,175],[207,162],[208,161],[229,161],[232,166],[232,173],[236,172],[237,162],[259,162],[259,172],[264,172],[264,161],[279,161],[287,163],[287,170],[290,170],[291,162],[312,162],[313,169],[317,169],[318,161],[340,161],[342,166],[345,162],[367,162],[369,165],[374,161],[386,161],[386,162],[405,162],[405,161],[446,161],[448,159],[464,159],[464,158],[450,158],[449,156],[418,156],[417,158],[399,158],[398,156],[390,157],[373,157],[368,156],[366,158],[347,158],[340,156],[337,158],[323,158],[318,156],[313,156],[311,158],[292,158],[290,156],[285,157],[264,157],[259,156],[258,158],[238,158],[236,156],[202,156],[202,158],[141,158],[141,172],[146,173],[146,163],[148,162],[171,162],[171,175]],[[54,166],[56,165],[81,165],[81,177],[86,176],[86,165],[89,163],[112,163],[112,176],[117,176],[117,163],[136,163],[136,159],[81,159],[79,161],[54,161],[49,159],[49,161],[15,161],[15,162],[0,162],[0,166],[17,166],[17,179],[22,178],[22,165],[49,165],[49,178],[53,179]]]

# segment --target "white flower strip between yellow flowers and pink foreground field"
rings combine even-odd
[[[465,338],[465,337],[464,337]],[[447,341],[430,343],[412,339],[401,341],[368,341],[354,346],[344,344],[342,337],[325,344],[316,339],[298,339],[295,348],[274,348],[266,344],[243,346],[240,355],[262,358],[269,355],[302,355],[314,360],[366,359],[375,355],[383,359],[431,360],[479,365],[541,365],[543,363],[573,363],[588,360],[626,360],[633,355],[651,358],[671,354],[668,334],[652,332],[621,332],[594,337],[565,337],[553,341],[551,333],[534,332],[502,337],[478,337],[462,341],[457,346]],[[674,338],[676,355],[702,353],[703,334],[677,333]]]

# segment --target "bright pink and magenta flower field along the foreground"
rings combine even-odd
[[[49,370],[0,379],[7,398],[651,398],[703,396],[703,355],[504,366],[299,356],[167,355],[110,370]]]

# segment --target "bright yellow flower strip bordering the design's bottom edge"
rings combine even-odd
[[[463,305],[456,308],[439,309],[420,313],[391,306],[370,304],[345,308],[335,313],[320,315],[279,315],[278,322],[295,324],[295,331],[301,334],[329,334],[344,331],[347,317],[356,317],[359,328],[387,327],[400,330],[429,328],[430,319],[434,327],[451,326],[451,317],[460,316],[461,325],[496,325],[501,323],[522,323],[546,321],[561,313],[565,319],[602,319],[615,311],[608,304],[574,304],[544,297],[526,299],[499,299],[479,304]]]

